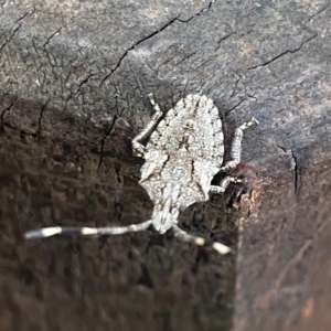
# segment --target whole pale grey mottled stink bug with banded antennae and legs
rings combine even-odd
[[[217,172],[228,172],[239,163],[244,130],[258,121],[253,117],[235,130],[231,160],[222,167],[224,135],[218,109],[212,99],[204,95],[188,95],[161,119],[163,113],[153,95],[150,94],[149,98],[156,113],[146,128],[134,138],[132,149],[146,160],[139,183],[154,204],[151,218],[115,227],[52,226],[26,232],[25,238],[56,234],[120,235],[145,231],[152,225],[160,234],[172,228],[174,236],[183,242],[207,245],[204,238],[178,226],[179,212],[194,202],[209,200],[210,192],[224,192],[231,182],[243,182],[239,178],[226,175],[218,185],[211,185]],[[149,136],[148,143],[143,146],[142,141]],[[213,243],[212,247],[220,254],[231,250],[221,243]]]

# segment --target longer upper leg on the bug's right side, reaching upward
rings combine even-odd
[[[258,120],[256,118],[252,118],[250,120],[244,122],[242,126],[236,128],[234,138],[231,146],[231,158],[232,160],[227,161],[222,168],[221,171],[227,171],[229,169],[234,169],[241,162],[242,154],[242,140],[244,136],[244,130],[253,126],[254,124],[258,125]]]

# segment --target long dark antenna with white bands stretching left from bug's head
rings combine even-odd
[[[139,232],[148,228],[152,221],[146,221],[139,224],[128,226],[106,226],[106,227],[85,227],[85,226],[51,226],[28,231],[24,233],[25,239],[45,238],[58,234],[77,235],[121,235],[128,232]]]

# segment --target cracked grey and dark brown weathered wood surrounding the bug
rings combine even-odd
[[[3,330],[329,328],[328,1],[2,0],[0,11]],[[21,237],[150,216],[130,141],[151,92],[164,109],[206,94],[227,138],[260,121],[244,141],[243,194],[181,217],[233,247],[238,234],[236,277],[232,257],[171,236]]]

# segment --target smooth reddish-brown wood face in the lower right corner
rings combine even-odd
[[[235,330],[328,330],[329,163],[300,168],[297,190],[289,172],[244,200]]]

